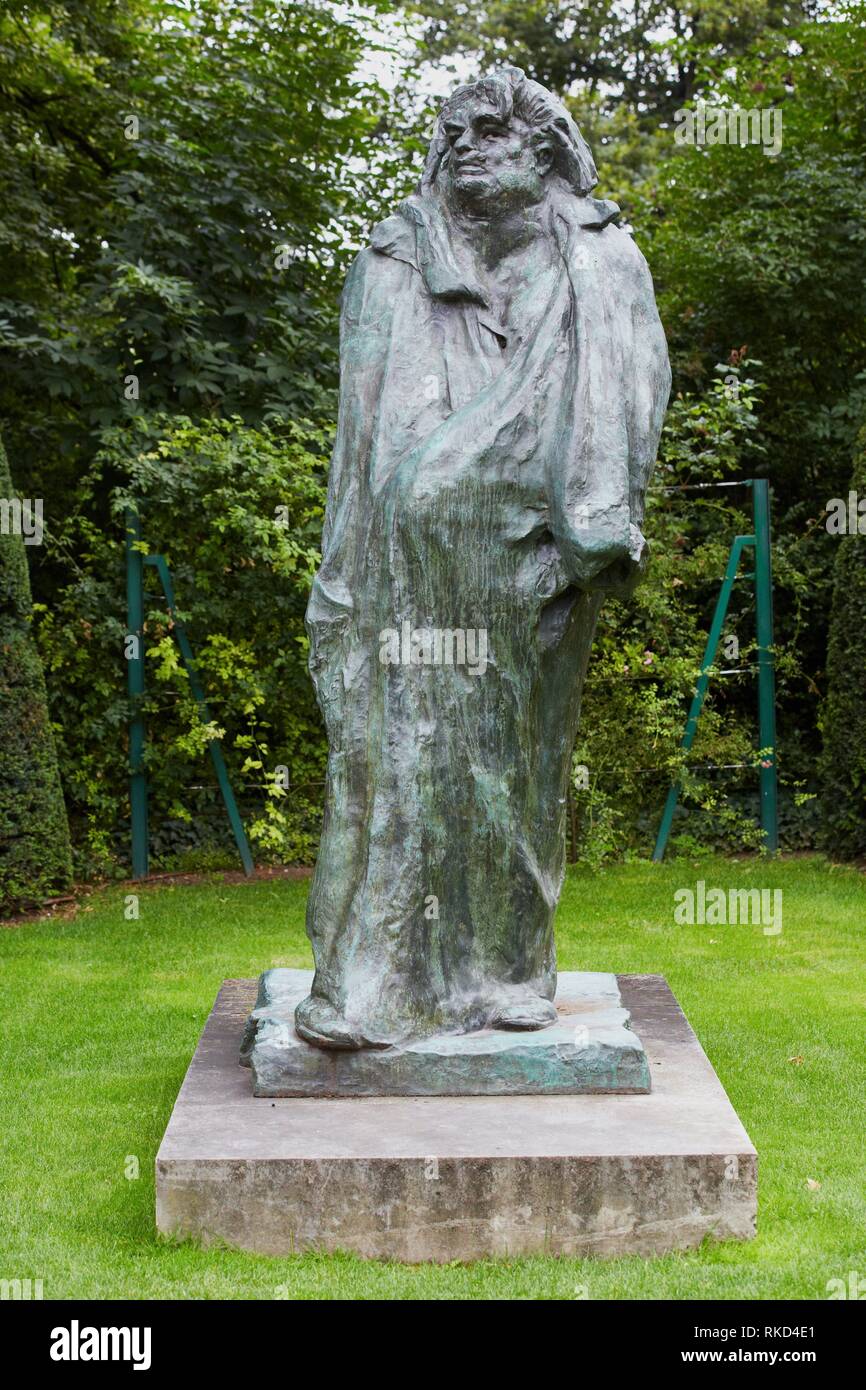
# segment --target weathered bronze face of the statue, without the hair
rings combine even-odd
[[[482,97],[470,99],[445,118],[450,146],[446,196],[457,208],[492,215],[537,203],[550,150],[532,139],[518,117],[503,121]]]

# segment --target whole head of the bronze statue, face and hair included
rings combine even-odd
[[[500,68],[445,101],[423,192],[435,188],[456,208],[495,215],[541,202],[552,178],[577,197],[598,182],[589,146],[566,107],[520,68]]]

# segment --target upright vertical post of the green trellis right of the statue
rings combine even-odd
[[[776,662],[773,655],[773,569],[770,555],[770,484],[756,478],[755,516],[755,607],[758,619],[758,738],[765,751],[760,760],[760,824],[765,847],[778,849],[778,771],[776,755]]]

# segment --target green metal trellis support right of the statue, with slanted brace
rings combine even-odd
[[[770,555],[770,484],[766,478],[748,478],[742,484],[752,489],[752,535],[737,535],[731,543],[727,570],[716,602],[716,612],[706,638],[701,676],[685,721],[683,749],[689,749],[698,730],[698,719],[709,689],[710,670],[716,660],[728,602],[737,580],[740,559],[745,549],[755,550],[755,571],[742,578],[755,580],[755,610],[758,619],[758,738],[760,744],[760,824],[765,833],[765,847],[770,853],[778,849],[778,774],[776,752],[776,666],[773,657],[773,566]],[[652,858],[664,858],[670,827],[680,798],[680,785],[674,783],[667,794],[662,824]]]

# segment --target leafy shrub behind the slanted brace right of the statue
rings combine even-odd
[[[685,762],[680,749],[728,549],[734,535],[752,530],[744,510],[749,495],[663,491],[742,477],[760,396],[749,366],[720,366],[706,392],[671,400],[648,498],[648,575],[631,598],[602,609],[571,792],[570,849],[589,863],[649,853],[674,780],[681,781],[681,796],[671,851],[691,852],[696,840],[714,849],[762,842],[748,795],[759,764],[748,582],[735,585],[716,657],[716,671],[727,667],[733,674],[710,678]],[[748,569],[742,562],[741,573]],[[796,578],[791,566],[780,567],[777,582],[795,585]],[[790,653],[777,653],[783,677],[791,662]]]

